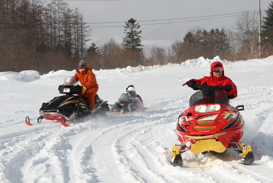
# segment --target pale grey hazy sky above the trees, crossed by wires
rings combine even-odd
[[[92,40],[87,45],[95,43],[97,46],[102,46],[111,38],[119,44],[122,43],[125,37],[123,26],[130,18],[134,18],[139,21],[144,50],[149,50],[153,45],[167,48],[176,40],[183,41],[186,33],[197,26],[206,30],[230,28],[234,26],[236,15],[241,12],[256,10],[258,13],[259,2],[259,0],[65,1],[68,2],[69,7],[77,7],[85,21],[90,23],[88,25],[92,28],[90,37]],[[263,10],[268,9],[271,0],[260,0],[260,2],[263,13]],[[106,22],[121,23],[105,24]]]

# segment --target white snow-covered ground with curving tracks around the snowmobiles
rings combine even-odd
[[[220,60],[238,89],[230,104],[245,105],[242,141],[252,146],[255,161],[242,165],[235,151],[187,151],[182,167],[170,164],[178,116],[195,92],[182,84],[208,76],[210,63],[219,60],[94,71],[102,99],[113,104],[134,85],[148,109],[89,117],[67,128],[58,121],[37,124],[37,118],[75,70],[0,73],[0,183],[273,183],[273,56]],[[25,125],[26,116],[33,126]]]

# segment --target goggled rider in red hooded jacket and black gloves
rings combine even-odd
[[[188,87],[194,88],[195,84],[201,85],[201,83],[205,80],[213,80],[216,82],[216,86],[225,86],[224,92],[227,93],[229,99],[233,99],[237,97],[237,87],[236,85],[229,79],[224,76],[224,68],[221,62],[213,62],[210,65],[210,76],[204,77],[199,80],[192,79],[186,83]],[[207,81],[206,85],[214,86],[214,82]]]

